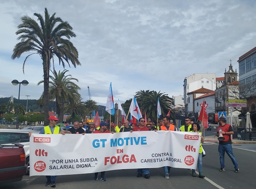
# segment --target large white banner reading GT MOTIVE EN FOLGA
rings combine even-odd
[[[30,176],[163,166],[196,169],[199,146],[195,132],[33,133]]]

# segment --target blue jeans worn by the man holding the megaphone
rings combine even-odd
[[[228,156],[230,157],[233,165],[235,166],[235,169],[238,168],[238,164],[236,162],[236,158],[233,154],[233,150],[232,150],[232,145],[231,144],[219,144],[219,148],[218,148],[219,154],[220,154],[220,168],[224,168],[225,167],[225,152],[228,154]]]

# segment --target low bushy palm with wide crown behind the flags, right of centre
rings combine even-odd
[[[157,120],[157,99],[159,98],[159,103],[161,107],[162,116],[165,116],[171,107],[172,98],[168,94],[157,93],[156,91],[138,91],[135,95],[139,107],[146,112],[147,117],[150,117],[154,122]],[[170,112],[170,117],[175,118],[174,111]]]

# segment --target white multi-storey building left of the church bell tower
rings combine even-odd
[[[214,91],[216,89],[216,74],[215,73],[194,73],[184,79],[183,87],[184,87],[185,112],[188,113],[189,110],[193,110],[192,108],[193,106],[190,107],[188,110],[188,103],[189,103],[188,93],[195,91],[197,89],[200,89],[202,87],[205,89]]]

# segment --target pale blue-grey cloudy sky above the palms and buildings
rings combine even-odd
[[[71,4],[70,4],[71,3]],[[81,66],[68,67],[79,80],[83,101],[105,105],[112,82],[114,101],[132,98],[139,90],[183,94],[184,78],[193,73],[223,77],[231,59],[238,72],[238,57],[256,46],[254,0],[9,0],[0,1],[0,97],[18,98],[13,79],[28,80],[20,99],[38,99],[43,92],[42,61],[30,56],[12,60],[20,18],[49,13],[68,21],[76,33],[71,41]],[[55,63],[57,59],[55,59]],[[55,64],[57,71],[62,66]]]

